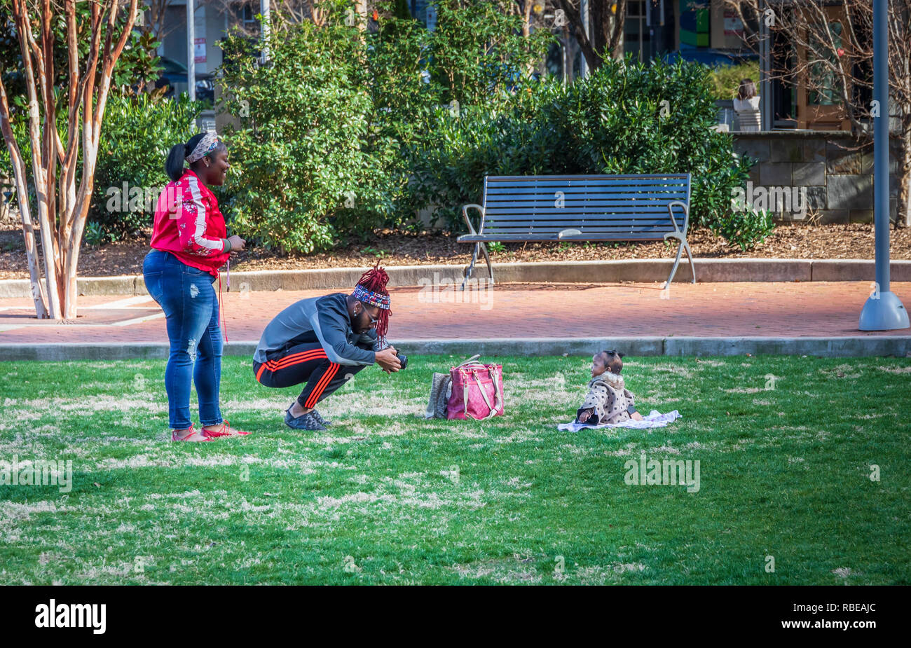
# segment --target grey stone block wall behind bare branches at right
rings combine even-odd
[[[804,220],[873,222],[873,143],[842,131],[732,133],[734,150],[759,162],[750,172],[755,187],[806,187]],[[893,144],[889,156],[889,216],[896,218],[898,184]],[[793,214],[782,220],[797,220]]]

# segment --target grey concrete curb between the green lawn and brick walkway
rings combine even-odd
[[[844,338],[531,338],[531,339],[396,339],[408,355],[480,353],[496,356],[589,355],[594,349],[623,349],[630,356],[808,355],[826,358],[911,356],[911,336]],[[229,342],[225,355],[248,356],[255,341]],[[0,360],[166,359],[167,342],[110,344],[0,344]]]

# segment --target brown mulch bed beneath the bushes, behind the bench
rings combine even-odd
[[[149,232],[150,235],[150,232]],[[890,230],[891,257],[911,259],[911,228]],[[874,258],[873,225],[792,225],[775,228],[772,236],[747,252],[714,236],[708,229],[693,229],[688,237],[695,258]],[[274,250],[251,248],[232,258],[232,270],[364,268],[379,259],[385,266],[467,264],[471,246],[455,242],[455,235],[439,232],[406,233],[382,230],[366,242],[352,241],[331,252],[287,256]],[[142,271],[148,252],[145,238],[99,248],[83,246],[79,276],[133,275]],[[507,243],[491,253],[494,262],[582,261],[619,258],[673,258],[670,243]],[[483,259],[482,259],[483,263]],[[22,233],[0,231],[0,279],[28,278]]]

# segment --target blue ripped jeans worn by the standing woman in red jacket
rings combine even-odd
[[[221,330],[219,300],[212,286],[215,278],[157,249],[146,255],[142,275],[148,294],[159,302],[167,318],[170,355],[165,390],[171,429],[190,426],[190,380],[196,383],[200,400],[200,424],[219,424]]]

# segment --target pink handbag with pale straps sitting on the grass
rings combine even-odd
[[[477,356],[449,370],[452,394],[446,419],[486,420],[503,416],[503,366],[486,365]]]

